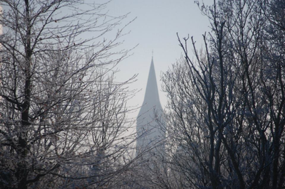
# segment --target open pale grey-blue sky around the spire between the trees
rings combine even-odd
[[[212,4],[212,1],[205,0],[204,3]],[[138,88],[140,92],[129,104],[142,104],[153,50],[160,102],[165,107],[167,99],[161,89],[160,75],[182,54],[176,33],[181,37],[188,34],[194,36],[197,47],[202,47],[202,34],[209,31],[207,17],[202,15],[194,0],[113,0],[107,9],[114,16],[130,13],[125,23],[136,18],[125,30],[130,34],[125,37],[123,48],[132,48],[137,44],[138,47],[130,58],[120,63],[117,75],[117,80],[127,80],[138,73],[138,81],[131,87]]]

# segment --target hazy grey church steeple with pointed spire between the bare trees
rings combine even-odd
[[[160,144],[160,141],[165,139],[165,131],[162,131],[163,129],[161,128],[163,123],[163,112],[157,90],[155,65],[153,63],[152,55],[150,72],[145,90],[145,99],[142,103],[137,119],[137,155],[144,151],[157,151],[157,149],[164,149]]]

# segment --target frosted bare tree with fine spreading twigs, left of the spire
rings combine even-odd
[[[1,188],[110,185],[130,163],[117,160],[130,144],[131,80],[113,82],[123,28],[104,36],[125,16],[79,0],[1,6]]]

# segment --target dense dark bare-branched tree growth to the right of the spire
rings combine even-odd
[[[284,4],[199,7],[205,49],[178,37],[185,58],[163,79],[181,154],[172,169],[193,188],[284,188]]]

